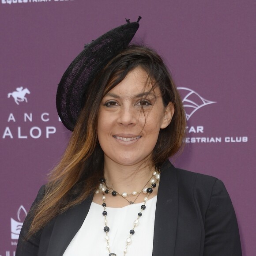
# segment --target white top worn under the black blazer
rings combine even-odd
[[[135,227],[132,243],[128,245],[125,256],[150,256],[153,251],[154,217],[157,196],[149,199],[146,209],[139,218],[139,225]],[[107,203],[107,202],[106,202]],[[106,207],[108,215],[110,252],[117,256],[124,255],[126,239],[133,228],[133,222],[138,217],[143,203],[135,203],[122,208]],[[106,248],[104,211],[102,205],[92,202],[83,225],[73,237],[63,256],[108,256]]]

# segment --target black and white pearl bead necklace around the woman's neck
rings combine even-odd
[[[141,205],[141,207],[140,207],[140,211],[139,211],[139,213],[138,213],[138,217],[136,218],[136,220],[133,222],[133,228],[132,228],[132,230],[130,230],[130,234],[129,234],[129,237],[126,239],[126,246],[125,246],[125,248],[124,248],[124,256],[126,255],[126,253],[127,253],[127,248],[128,248],[128,245],[130,245],[131,243],[132,243],[132,239],[131,239],[131,237],[132,237],[132,235],[134,235],[135,234],[135,228],[136,228],[136,226],[138,226],[139,225],[139,218],[142,216],[142,212],[146,209],[146,203],[147,203],[147,200],[148,200],[148,197],[149,197],[149,195],[153,192],[153,188],[155,188],[156,187],[156,184],[158,183],[158,181],[159,181],[159,179],[160,179],[160,169],[159,169],[159,171],[158,171],[158,168],[156,167],[155,168],[155,171],[154,171],[154,173],[153,173],[153,176],[152,176],[152,179],[150,180],[150,187],[149,188],[143,188],[143,190],[141,191],[141,192],[143,192],[144,194],[147,194],[147,196],[146,197],[144,197],[144,200],[143,200],[143,204]],[[107,246],[106,246],[106,248],[107,248],[107,250],[108,250],[108,252],[109,252],[109,256],[117,256],[117,254],[115,254],[115,253],[111,253],[110,252],[110,245],[109,245],[109,227],[107,226],[107,215],[108,215],[108,213],[107,213],[107,211],[106,211],[106,203],[105,203],[105,200],[106,200],[106,196],[105,196],[105,192],[106,192],[106,190],[107,190],[107,186],[106,186],[106,184],[105,184],[105,178],[101,178],[100,179],[100,184],[99,184],[99,189],[98,190],[96,190],[96,194],[99,194],[99,190],[101,190],[102,191],[102,201],[103,201],[103,203],[102,203],[102,206],[103,206],[103,212],[102,212],[102,215],[104,216],[104,224],[105,224],[105,226],[104,226],[104,232],[106,233],[105,234],[105,240],[106,240],[106,243],[107,243]],[[114,191],[113,191],[114,192]],[[116,195],[113,195],[113,192],[112,192],[112,196],[116,196]],[[133,194],[132,194],[133,195]],[[120,194],[120,196],[122,196],[122,194]],[[127,194],[127,196],[128,196],[128,194]]]

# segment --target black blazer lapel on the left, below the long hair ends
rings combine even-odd
[[[93,196],[56,218],[46,255],[62,256],[90,209]]]

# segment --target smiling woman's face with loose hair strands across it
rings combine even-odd
[[[164,107],[160,89],[152,90],[147,78],[137,67],[102,99],[98,140],[105,161],[132,166],[151,159],[160,129],[170,123],[173,104]]]

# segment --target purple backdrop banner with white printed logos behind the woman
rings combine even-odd
[[[243,255],[256,253],[255,3],[238,0],[1,0],[0,256],[70,137],[57,84],[85,43],[142,16],[135,41],[166,60],[188,134],[175,166],[221,179]]]

